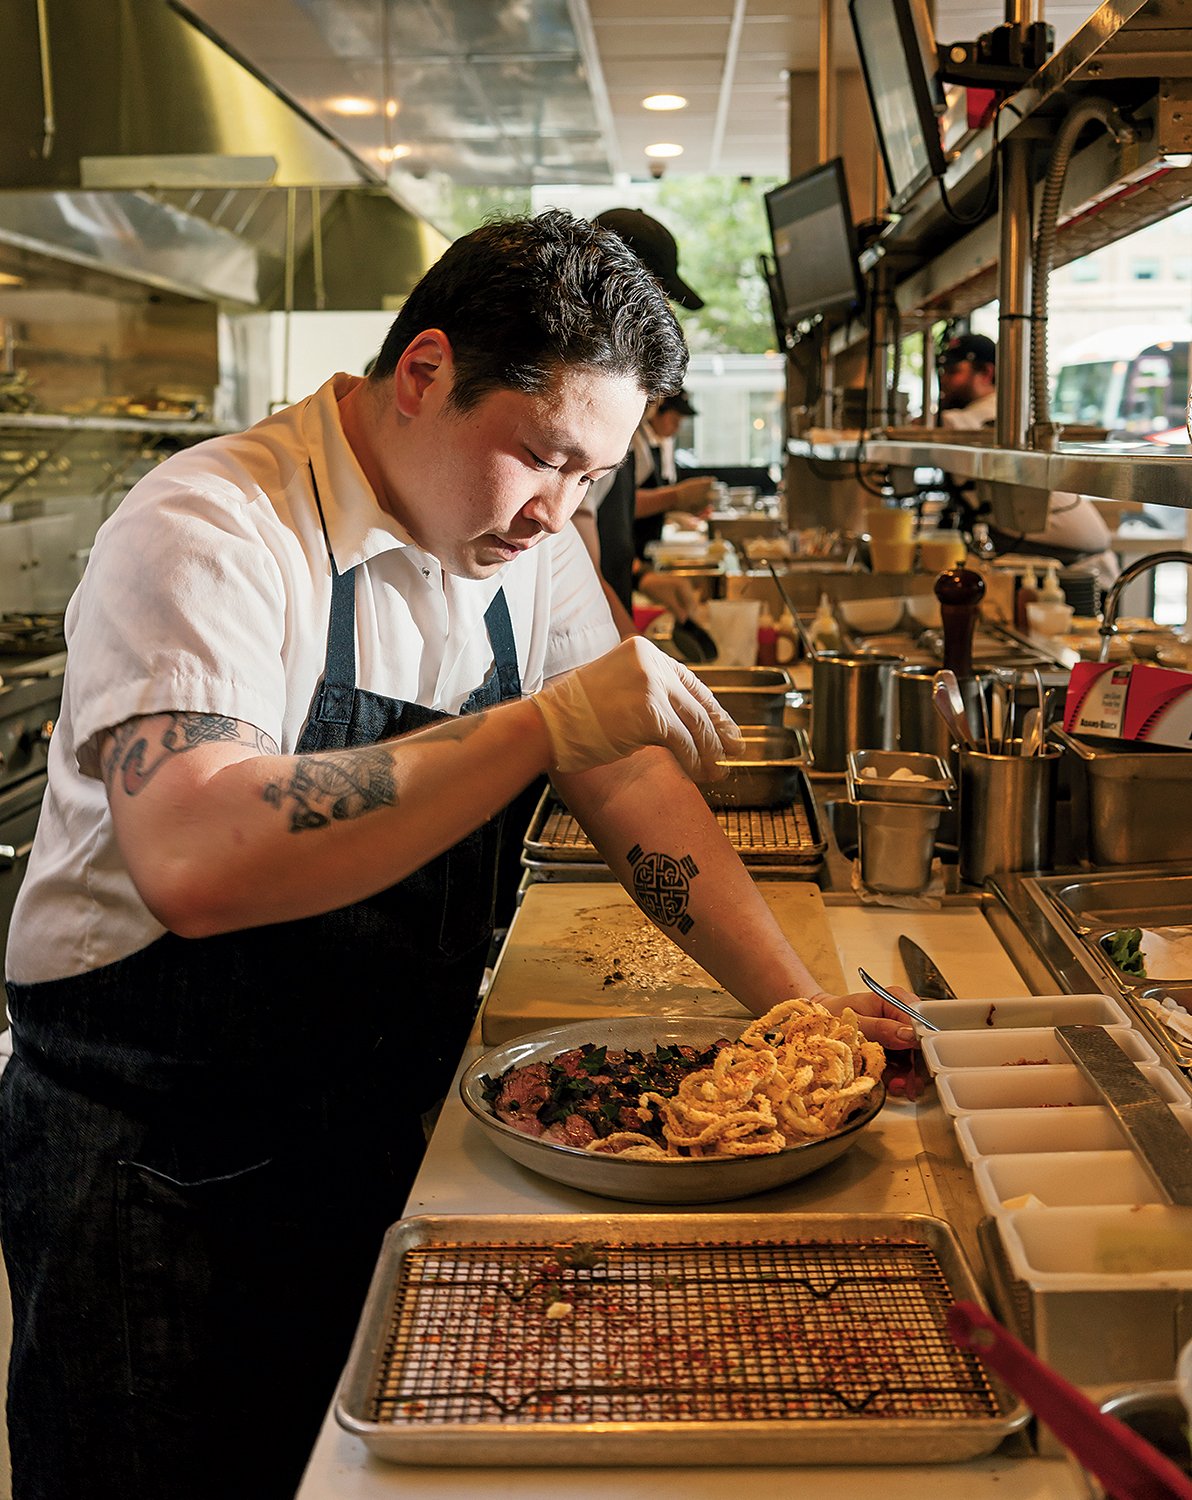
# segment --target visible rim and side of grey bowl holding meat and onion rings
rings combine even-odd
[[[654,1050],[657,1046],[703,1048],[721,1036],[738,1036],[747,1023],[748,1017],[735,1023],[730,1017],[717,1016],[615,1016],[610,1020],[553,1026],[486,1052],[463,1074],[459,1092],[468,1112],[495,1146],[519,1166],[553,1182],[624,1203],[685,1204],[748,1198],[807,1178],[849,1150],[885,1104],[885,1086],[879,1083],[858,1112],[831,1136],[813,1137],[765,1156],[703,1156],[690,1161],[636,1161],[537,1140],[498,1119],[484,1098],[486,1077],[499,1077],[507,1068],[549,1062],[586,1042],[639,1052]]]

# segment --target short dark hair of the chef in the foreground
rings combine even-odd
[[[481,225],[450,244],[385,334],[369,378],[397,368],[424,328],[454,354],[451,404],[537,394],[564,366],[631,375],[648,399],[678,390],[687,344],[664,292],[625,242],[552,208]]]

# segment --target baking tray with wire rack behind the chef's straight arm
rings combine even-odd
[[[807,774],[798,768],[793,786],[793,800],[786,807],[714,807],[712,816],[750,868],[763,867],[766,874],[790,870],[811,879],[823,866],[828,840]],[[558,878],[565,867],[577,879],[612,879],[588,834],[550,788],[529,820],[522,864],[535,876]]]

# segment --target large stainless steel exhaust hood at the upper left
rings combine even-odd
[[[0,240],[241,308],[387,309],[445,246],[165,0],[0,0]]]

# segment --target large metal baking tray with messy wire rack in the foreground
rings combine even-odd
[[[405,1464],[955,1462],[1029,1420],[957,1299],[928,1215],[409,1218],[336,1418]]]

